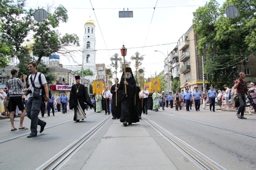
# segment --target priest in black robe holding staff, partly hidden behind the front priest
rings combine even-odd
[[[121,103],[118,101],[117,91],[119,88],[119,79],[115,78],[115,84],[110,88],[110,92],[112,94],[111,101],[111,113],[112,119],[120,119],[121,115]]]

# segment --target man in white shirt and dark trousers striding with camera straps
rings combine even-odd
[[[31,87],[30,97],[27,104],[27,116],[31,119],[31,134],[27,136],[28,138],[37,136],[37,125],[40,125],[40,133],[43,132],[46,125],[45,121],[38,118],[42,100],[43,100],[43,90],[45,92],[45,101],[49,101],[49,89],[43,73],[36,71],[37,64],[35,61],[28,63],[28,69],[31,75],[29,75],[29,85]],[[40,76],[40,78],[39,78]],[[41,80],[41,81],[40,81]]]

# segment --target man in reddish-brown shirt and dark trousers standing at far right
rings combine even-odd
[[[245,95],[245,89],[244,88],[249,88],[249,86],[247,86],[246,81],[244,80],[245,78],[245,73],[244,72],[240,72],[239,73],[239,79],[235,80],[235,85],[234,85],[234,89],[236,90],[236,95],[238,96],[239,99],[239,107],[236,113],[236,116],[239,119],[247,119],[244,117],[244,112],[245,112],[245,106],[246,106],[246,95]],[[241,115],[240,115],[241,113]]]

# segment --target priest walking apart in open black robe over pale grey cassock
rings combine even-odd
[[[80,76],[75,76],[76,83],[71,87],[69,98],[69,109],[74,109],[74,121],[86,119],[85,103],[94,107],[91,98],[85,89],[85,86],[80,83]]]

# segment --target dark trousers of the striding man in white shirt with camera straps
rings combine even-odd
[[[37,135],[37,125],[43,125],[45,121],[38,118],[42,105],[42,96],[39,98],[29,97],[27,104],[27,117],[31,119],[31,134]]]

